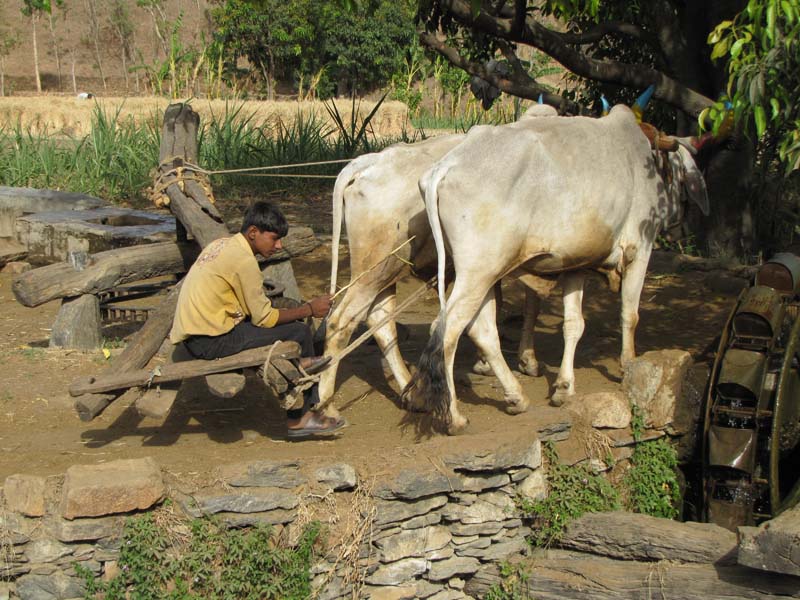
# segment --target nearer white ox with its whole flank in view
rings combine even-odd
[[[502,158],[499,158],[502,157]],[[438,252],[439,275],[449,248],[455,282],[404,394],[408,408],[431,410],[449,433],[468,421],[459,413],[453,357],[476,315],[494,318],[492,286],[506,275],[539,285],[563,281],[564,355],[554,398],[574,394],[573,359],[584,323],[582,273],[596,270],[622,292],[624,365],[634,355],[639,296],[653,241],[677,220],[684,191],[708,214],[702,174],[684,147],[654,152],[625,106],[601,119],[529,119],[476,127],[420,180]],[[506,398],[523,397],[499,345],[480,346]],[[522,401],[524,403],[524,400]]]

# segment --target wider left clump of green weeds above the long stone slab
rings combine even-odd
[[[536,502],[522,499],[522,511],[534,521],[532,542],[547,547],[558,541],[567,524],[587,512],[620,508],[619,492],[602,475],[584,465],[562,465],[553,444],[543,446],[547,458],[547,498]]]

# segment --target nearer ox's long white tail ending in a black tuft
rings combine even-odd
[[[433,413],[436,422],[445,427],[450,425],[450,390],[444,364],[444,333],[447,322],[445,304],[445,262],[447,252],[444,234],[439,219],[438,188],[447,173],[447,165],[438,163],[419,180],[422,196],[425,198],[425,210],[431,225],[433,240],[436,244],[437,277],[439,305],[441,307],[431,337],[417,363],[417,372],[403,391],[403,402],[410,410],[423,410]]]

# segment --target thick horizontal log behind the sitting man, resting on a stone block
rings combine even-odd
[[[47,265],[14,278],[11,290],[24,306],[56,298],[98,294],[123,283],[185,273],[197,258],[196,244],[162,242],[98,252],[82,271],[68,262]]]

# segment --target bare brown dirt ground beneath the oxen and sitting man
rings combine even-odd
[[[325,206],[310,211],[286,207],[286,212],[295,223],[302,220],[304,212],[307,219],[317,220],[325,217]],[[320,237],[320,247],[293,261],[301,290],[309,297],[328,288],[330,239],[324,234]],[[340,256],[342,283],[347,277],[346,248]],[[668,265],[669,257],[658,262]],[[651,263],[651,267],[642,293],[637,351],[682,348],[696,360],[708,361],[709,348],[735,299],[733,290],[709,290],[703,284],[704,273],[676,274],[669,266]],[[562,304],[556,292],[545,303],[537,328],[543,376],[518,375],[532,401],[528,413],[510,416],[503,411],[497,380],[469,373],[475,351],[471,342],[462,342],[456,378],[471,424],[467,433],[455,438],[418,434],[417,417],[409,420],[398,407],[397,389],[393,381],[387,382],[374,344],[363,345],[340,367],[335,401],[350,426],[334,439],[286,441],[282,413],[255,376],[248,378],[242,393],[229,400],[212,396],[202,381],[191,382],[162,420],[140,417],[123,397],[86,423],[73,409],[67,388],[78,376],[99,373],[108,361],[99,351],[47,348],[58,302],[25,308],[14,300],[11,281],[10,275],[0,274],[0,481],[12,473],[55,475],[73,464],[143,456],[152,456],[169,473],[187,480],[203,479],[216,465],[257,459],[298,459],[307,465],[342,460],[362,473],[378,475],[396,472],[409,462],[429,460],[439,450],[455,451],[535,431],[543,420],[556,420],[558,411],[564,410],[548,407],[547,401],[563,346]],[[400,297],[418,285],[413,279],[402,281]],[[512,366],[521,326],[522,293],[516,286],[504,284],[499,315],[503,349]],[[399,321],[408,333],[401,350],[408,361],[415,361],[422,350],[437,310],[438,301],[430,294],[401,315]],[[576,355],[578,393],[617,388],[621,381],[618,295],[599,279],[590,279],[584,314],[586,331]],[[114,327],[105,330],[109,346],[118,345],[120,331]]]

